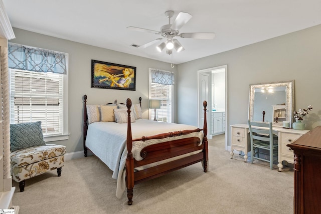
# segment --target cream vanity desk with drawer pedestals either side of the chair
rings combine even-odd
[[[278,170],[282,171],[282,161],[293,163],[293,151],[286,145],[293,143],[300,136],[309,130],[294,130],[282,127],[273,127],[273,133],[278,136]],[[233,158],[234,150],[244,152],[244,162],[247,162],[247,153],[251,151],[251,140],[249,136],[249,127],[247,124],[231,125],[231,158]]]

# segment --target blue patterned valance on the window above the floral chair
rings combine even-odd
[[[9,68],[35,72],[67,74],[68,54],[8,43]]]

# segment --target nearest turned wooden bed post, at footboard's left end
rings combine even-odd
[[[128,198],[128,205],[132,204],[132,190],[134,188],[134,159],[132,156],[132,136],[131,136],[131,123],[130,123],[130,108],[131,108],[131,100],[128,98],[126,100],[126,107],[127,107],[127,158],[126,158],[126,187],[127,187],[127,198]]]

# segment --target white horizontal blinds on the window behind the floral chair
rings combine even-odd
[[[63,133],[63,75],[10,69],[11,123],[41,121],[44,135]]]

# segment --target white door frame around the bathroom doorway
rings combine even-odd
[[[200,103],[200,85],[199,85],[199,76],[201,73],[212,73],[212,70],[217,70],[217,69],[224,69],[225,71],[225,150],[228,149],[227,147],[227,131],[228,131],[228,99],[227,99],[227,65],[222,65],[222,66],[216,66],[216,67],[212,67],[212,68],[207,68],[207,69],[202,69],[202,70],[198,70],[197,71],[197,101],[198,103]],[[212,91],[212,84],[209,84],[209,91]],[[209,93],[210,94],[210,93]],[[207,105],[207,109],[209,108],[212,108],[212,97],[210,96],[210,99],[208,101],[208,105]],[[198,111],[198,116],[197,116],[197,119],[198,119],[198,123],[200,123],[200,105],[198,105],[197,107],[197,111]],[[210,114],[212,111],[208,111],[208,124],[209,122],[212,120],[212,114]],[[202,125],[202,124],[201,124]],[[198,124],[198,127],[200,127],[200,124]],[[209,131],[208,131],[209,133]],[[211,138],[212,138],[212,134],[209,135]],[[209,138],[209,139],[211,139]]]

